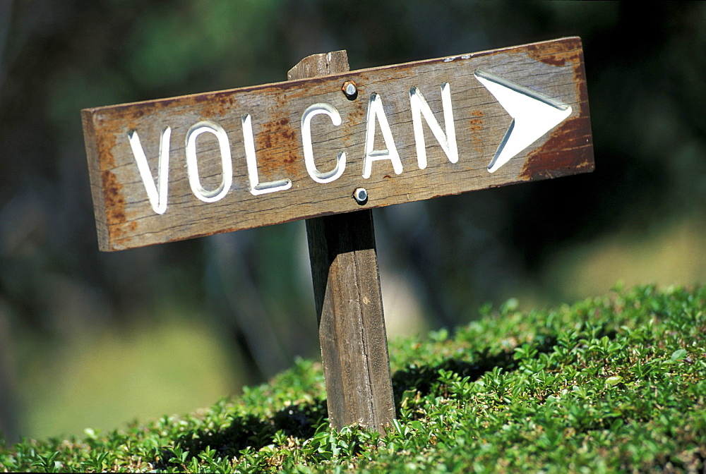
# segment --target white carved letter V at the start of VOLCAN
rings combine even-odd
[[[150,164],[147,162],[145,150],[143,150],[142,145],[140,144],[140,137],[138,137],[136,130],[131,130],[130,133],[128,133],[130,147],[135,155],[137,168],[140,170],[140,178],[142,178],[142,182],[145,185],[147,197],[150,199],[152,209],[154,209],[157,214],[164,214],[164,212],[167,212],[167,185],[169,184],[169,139],[171,137],[172,128],[164,128],[162,131],[162,140],[160,140],[160,162],[157,164],[157,184],[159,186],[159,191],[157,191],[157,186],[155,186],[155,178],[152,176],[152,171],[150,171]]]

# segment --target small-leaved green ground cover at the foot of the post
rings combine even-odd
[[[331,430],[321,366],[298,360],[190,415],[0,447],[0,470],[706,470],[706,288],[481,313],[390,344],[398,419],[385,435]]]

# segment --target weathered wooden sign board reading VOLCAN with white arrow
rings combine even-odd
[[[578,37],[83,110],[101,250],[592,171]]]

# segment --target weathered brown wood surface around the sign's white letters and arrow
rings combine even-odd
[[[306,73],[306,66],[301,67]],[[572,107],[566,121],[493,174],[486,168],[512,119],[474,77],[479,68]],[[364,207],[370,209],[594,168],[578,37],[327,73],[317,78],[83,110],[100,248],[119,250],[352,212],[361,208],[352,198],[358,187],[368,191],[369,200]],[[357,84],[354,100],[341,90],[346,80]],[[443,123],[440,88],[444,82],[450,84],[460,159],[450,163],[429,128],[425,128],[429,166],[419,169],[409,90],[418,87],[436,119]],[[383,100],[403,165],[401,174],[395,174],[385,160],[373,163],[369,178],[362,177],[366,114],[373,93]],[[347,154],[345,172],[326,184],[316,183],[309,176],[301,145],[301,115],[316,103],[331,104],[342,118],[340,126],[333,126],[325,116],[313,119],[317,166],[321,170],[333,169],[337,153]],[[292,181],[288,190],[251,194],[241,119],[244,114],[252,117],[260,181],[288,178]],[[217,202],[198,200],[186,174],[186,133],[193,124],[204,120],[224,128],[232,154],[232,186]],[[168,203],[164,214],[156,214],[140,178],[128,134],[138,132],[152,176],[157,176],[160,135],[167,126],[172,129]],[[375,148],[383,147],[378,130]],[[213,135],[199,138],[198,170],[203,188],[217,188],[222,165]]]

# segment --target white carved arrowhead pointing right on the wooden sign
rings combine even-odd
[[[477,69],[474,75],[513,117],[503,141],[498,145],[498,151],[488,165],[491,173],[571,115],[569,105],[542,92],[522,87],[481,69]]]

